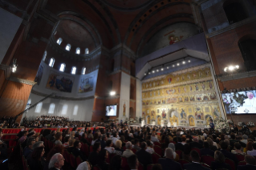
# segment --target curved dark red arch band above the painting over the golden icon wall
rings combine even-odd
[[[134,20],[130,24],[124,38],[124,43],[128,45],[130,42],[129,39],[131,39],[132,36],[134,36],[135,31],[140,29],[140,27],[144,23],[144,20],[145,19],[148,20],[148,18],[152,17],[153,14],[156,14],[157,12],[165,8],[169,8],[169,6],[176,6],[181,4],[190,6],[190,2],[191,0],[164,0],[161,2],[156,2],[152,4],[152,6],[148,7],[147,9],[142,10],[139,14],[136,15],[136,18],[134,18]]]

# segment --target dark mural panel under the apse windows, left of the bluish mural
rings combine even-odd
[[[73,83],[73,77],[51,71],[47,81],[47,88],[54,91],[71,92]]]

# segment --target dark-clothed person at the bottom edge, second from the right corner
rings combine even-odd
[[[228,170],[232,170],[230,164],[225,163],[225,156],[220,151],[214,152],[214,162],[211,164],[211,168],[218,169],[218,168],[226,168]]]

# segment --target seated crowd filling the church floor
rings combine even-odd
[[[80,156],[83,160],[76,168],[78,170],[87,170],[95,166],[102,170],[120,170],[123,164],[122,157],[127,158],[130,169],[138,169],[140,164],[147,169],[148,165],[154,163],[154,170],[231,170],[232,164],[226,164],[226,158],[234,162],[235,169],[256,169],[255,133],[250,132],[224,133],[212,128],[186,130],[157,126],[132,127],[122,123],[111,123],[105,128],[88,130],[87,127],[73,127],[72,130],[66,128],[62,132],[60,128],[57,131],[43,128],[40,133],[35,133],[33,128],[28,130],[25,127],[18,133],[17,138],[30,170],[69,169],[63,158],[64,150],[73,153],[75,157]],[[51,141],[55,147],[45,148],[43,139]],[[91,146],[93,151],[87,155],[81,150],[82,144]],[[157,162],[152,160],[152,154],[156,153],[155,146],[159,146],[162,151],[157,152],[161,156]],[[114,156],[108,164],[108,156],[112,154]],[[246,164],[239,166],[236,155],[244,156]],[[213,157],[214,161],[209,164],[209,168],[200,164],[201,156]],[[181,159],[187,164],[181,164]]]

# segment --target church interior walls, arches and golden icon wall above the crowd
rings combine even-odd
[[[256,119],[255,0],[1,0],[0,16],[0,117]]]

